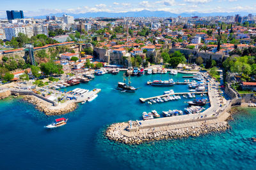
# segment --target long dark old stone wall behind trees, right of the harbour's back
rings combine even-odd
[[[188,58],[188,56],[192,53],[194,57],[192,60],[195,60],[197,57],[202,57],[204,59],[204,62],[207,59],[216,60],[216,62],[221,63],[223,60],[223,55],[218,53],[212,53],[212,52],[198,52],[198,50],[190,50],[186,48],[172,48],[170,49],[170,52],[180,51],[181,53],[184,53],[185,57]]]

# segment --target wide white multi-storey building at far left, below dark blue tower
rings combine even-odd
[[[13,37],[17,37],[19,33],[25,34],[28,38],[34,35],[33,27],[24,26],[24,27],[6,27],[4,28],[5,36],[8,41]]]

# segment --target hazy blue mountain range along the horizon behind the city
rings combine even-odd
[[[128,11],[128,12],[120,12],[120,13],[113,13],[113,12],[86,12],[86,13],[51,13],[49,15],[55,15],[56,17],[61,17],[63,14],[71,15],[74,18],[90,18],[90,17],[192,17],[192,16],[199,16],[199,17],[209,17],[209,16],[228,16],[228,15],[236,15],[239,14],[241,16],[248,15],[249,13],[246,11],[239,11],[239,12],[232,12],[232,13],[172,13],[169,11]],[[46,15],[42,16],[35,16],[34,18],[45,18]],[[31,18],[31,17],[30,17]]]

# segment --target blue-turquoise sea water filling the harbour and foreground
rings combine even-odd
[[[69,87],[100,88],[91,103],[62,117],[68,124],[48,131],[44,125],[54,118],[35,110],[21,99],[0,102],[1,169],[255,169],[256,111],[235,115],[232,129],[198,138],[154,141],[138,146],[122,145],[104,138],[106,126],[141,119],[143,111],[183,109],[185,100],[148,105],[140,97],[163,94],[165,90],[186,92],[186,85],[150,87],[148,80],[168,79],[168,74],[132,77],[136,93],[115,90],[122,73],[97,76],[89,83]],[[171,76],[183,81],[182,74]]]

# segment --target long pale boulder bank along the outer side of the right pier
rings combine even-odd
[[[112,124],[106,130],[106,137],[113,141],[125,144],[140,144],[147,141],[161,139],[187,138],[189,136],[200,136],[210,132],[223,132],[229,128],[227,122],[218,122],[214,124],[200,125],[195,127],[184,127],[180,129],[170,129],[167,131],[158,131],[145,134],[137,134],[136,136],[127,137],[122,134],[120,127],[128,126],[128,123]]]

